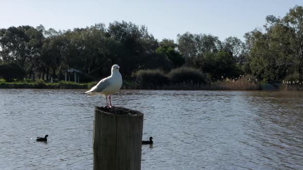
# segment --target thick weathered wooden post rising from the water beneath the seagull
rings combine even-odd
[[[94,108],[93,169],[141,169],[143,113]]]

